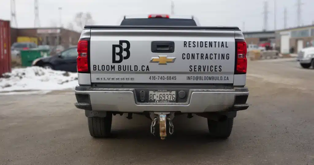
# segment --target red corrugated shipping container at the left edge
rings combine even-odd
[[[0,20],[0,77],[11,72],[11,27],[10,21]]]

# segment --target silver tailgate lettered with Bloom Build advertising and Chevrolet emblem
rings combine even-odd
[[[230,29],[91,28],[92,83],[233,84]]]

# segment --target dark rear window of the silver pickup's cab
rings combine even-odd
[[[197,26],[193,19],[176,18],[130,18],[123,19],[121,25],[127,26]]]

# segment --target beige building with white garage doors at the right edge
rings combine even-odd
[[[280,53],[297,53],[304,47],[314,44],[314,25],[276,31],[276,45]]]

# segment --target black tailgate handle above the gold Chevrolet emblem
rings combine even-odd
[[[175,42],[152,41],[151,50],[153,53],[173,53],[175,51]]]

